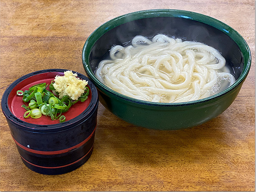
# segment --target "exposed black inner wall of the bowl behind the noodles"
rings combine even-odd
[[[236,79],[241,75],[244,59],[238,45],[224,32],[202,22],[186,18],[155,17],[130,21],[109,30],[94,44],[90,52],[89,64],[92,72],[106,57],[113,45],[128,46],[137,35],[148,38],[157,34],[183,40],[202,42],[220,51],[226,59],[230,72]]]

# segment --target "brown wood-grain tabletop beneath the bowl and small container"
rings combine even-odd
[[[92,156],[77,170],[55,176],[22,163],[1,111],[1,191],[254,191],[254,0],[1,0],[0,96],[14,80],[37,70],[85,74],[82,47],[98,26],[155,8],[206,14],[245,38],[252,68],[234,103],[217,118],[179,131],[133,126],[99,104]]]

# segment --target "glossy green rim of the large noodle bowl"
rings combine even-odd
[[[94,46],[94,44],[97,42],[98,38],[100,38],[103,34],[108,32],[109,30],[121,25],[125,24],[127,22],[131,22],[134,20],[144,19],[144,18],[154,18],[154,17],[174,17],[174,18],[184,18],[189,20],[195,20],[204,24],[207,24],[209,26],[212,26],[222,32],[224,34],[228,35],[234,42],[238,45],[240,48],[240,51],[242,52],[243,58],[244,58],[244,67],[242,70],[241,75],[236,80],[234,84],[232,84],[229,88],[223,90],[220,93],[214,94],[212,96],[202,98],[199,100],[193,100],[188,102],[175,102],[175,103],[160,103],[160,102],[151,102],[151,101],[145,101],[145,100],[138,100],[136,98],[131,98],[129,96],[120,94],[110,88],[108,88],[106,85],[104,85],[92,72],[90,65],[87,64],[89,62],[89,56],[90,56],[90,49]],[[102,34],[103,33],[103,34]],[[205,103],[211,100],[214,100],[216,98],[219,98],[226,93],[238,88],[240,84],[244,82],[246,79],[250,67],[251,67],[251,52],[250,48],[247,44],[247,42],[244,40],[244,38],[233,28],[228,26],[227,24],[221,22],[220,20],[217,20],[215,18],[212,18],[210,16],[206,16],[204,14],[186,11],[186,10],[175,10],[175,9],[152,9],[152,10],[142,10],[137,12],[131,12],[128,14],[124,14],[121,16],[118,16],[116,18],[113,18],[92,32],[90,36],[87,38],[86,42],[84,43],[83,50],[82,50],[82,62],[84,69],[86,71],[87,76],[96,84],[96,87],[100,89],[105,94],[108,93],[112,96],[115,96],[116,99],[119,100],[126,100],[128,102],[132,102],[134,104],[142,104],[146,106],[160,106],[160,107],[170,107],[170,106],[187,106],[187,105],[194,105],[194,104],[201,104]]]

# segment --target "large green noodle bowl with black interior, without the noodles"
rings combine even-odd
[[[203,42],[218,49],[234,69],[236,82],[208,98],[156,103],[119,94],[96,78],[95,68],[111,46],[124,45],[136,35],[156,34]],[[97,28],[84,44],[82,62],[87,76],[98,89],[100,102],[110,112],[137,126],[178,130],[207,122],[232,104],[250,70],[251,54],[242,36],[219,20],[182,10],[144,10],[119,16]]]

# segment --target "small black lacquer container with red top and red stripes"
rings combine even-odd
[[[50,84],[56,75],[64,75],[64,71],[40,70],[22,76],[2,96],[2,111],[21,159],[28,168],[41,174],[70,172],[84,164],[93,150],[98,93],[94,84],[82,74],[77,73],[78,78],[88,81],[90,94],[85,102],[77,102],[63,114],[66,122],[52,121],[49,116],[23,118],[26,110],[21,105],[25,103],[22,96],[16,95],[17,90],[28,90],[41,82]]]

